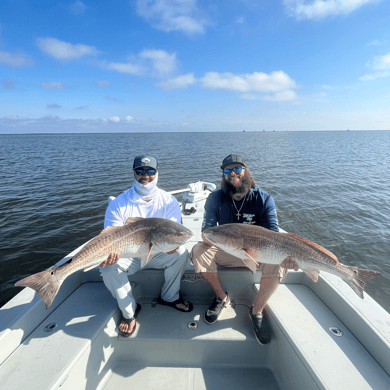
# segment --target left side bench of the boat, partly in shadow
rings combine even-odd
[[[102,282],[81,285],[3,363],[1,389],[59,388],[81,359],[93,364],[92,343],[99,337],[109,345],[118,320],[116,300]]]

